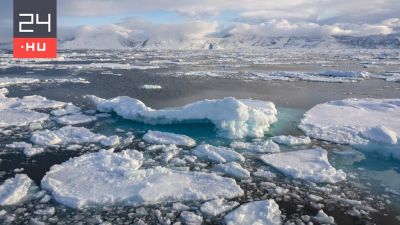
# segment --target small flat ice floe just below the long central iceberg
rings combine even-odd
[[[196,141],[189,136],[161,131],[150,130],[143,135],[142,139],[150,144],[167,144],[186,147],[193,147],[196,145]]]

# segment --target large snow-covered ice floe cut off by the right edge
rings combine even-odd
[[[346,99],[319,104],[300,123],[308,136],[400,159],[400,99]]]

